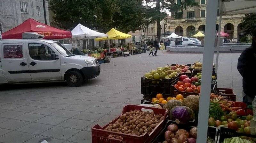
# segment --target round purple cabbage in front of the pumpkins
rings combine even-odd
[[[174,119],[177,124],[186,124],[190,120],[189,111],[182,106],[174,107],[174,109],[172,109],[172,119]]]

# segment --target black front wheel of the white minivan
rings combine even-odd
[[[78,87],[83,84],[83,76],[78,71],[70,71],[66,76],[68,86]]]

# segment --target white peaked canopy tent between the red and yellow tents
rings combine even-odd
[[[80,23],[78,25],[76,25],[76,27],[71,31],[71,33],[72,33],[72,38],[85,39],[86,52],[87,52],[87,40],[86,39],[108,37],[108,34],[94,31],[90,28],[85,27],[84,25],[81,25]],[[109,48],[109,45],[108,45],[108,48]],[[110,48],[109,48],[109,51],[110,51]],[[87,52],[87,55],[88,55],[88,52]]]

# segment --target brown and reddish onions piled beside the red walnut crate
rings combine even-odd
[[[190,130],[179,129],[178,125],[170,124],[164,132],[162,143],[196,143],[197,128],[189,127]]]

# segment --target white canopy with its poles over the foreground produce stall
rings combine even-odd
[[[207,16],[206,16],[206,27],[205,27],[205,38],[204,38],[204,54],[203,54],[203,70],[202,70],[202,81],[201,81],[201,92],[199,102],[199,115],[198,115],[198,132],[197,132],[197,143],[204,143],[207,139],[208,129],[208,115],[210,105],[210,92],[211,92],[211,77],[212,77],[212,63],[214,55],[214,41],[216,38],[215,27],[217,22],[217,9],[218,4],[220,8],[220,24],[221,17],[223,14],[244,14],[244,13],[255,13],[256,12],[256,0],[209,0],[207,1]],[[218,36],[218,48],[217,48],[217,61],[220,46],[220,32]],[[217,72],[217,61],[216,61],[216,72]]]

